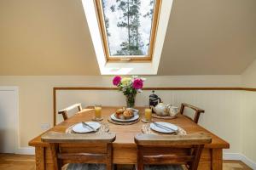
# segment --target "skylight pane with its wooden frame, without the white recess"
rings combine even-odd
[[[151,60],[160,0],[96,0],[107,60]]]

